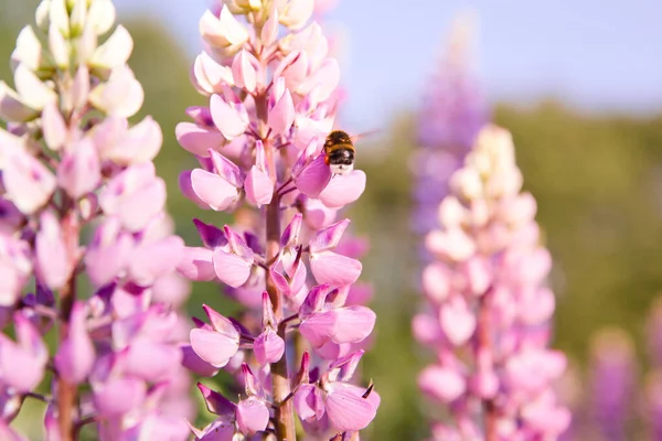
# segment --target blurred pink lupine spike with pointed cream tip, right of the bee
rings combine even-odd
[[[426,237],[429,311],[413,326],[437,361],[418,384],[455,421],[436,424],[437,440],[555,439],[570,420],[552,388],[566,359],[547,348],[551,257],[521,186],[510,133],[485,126],[451,176],[440,229]]]

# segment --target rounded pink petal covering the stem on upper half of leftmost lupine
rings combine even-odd
[[[57,183],[73,198],[94,191],[102,180],[99,158],[88,138],[76,142],[57,168]]]

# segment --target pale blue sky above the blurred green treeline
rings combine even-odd
[[[120,13],[153,13],[199,50],[210,0],[117,0]],[[342,63],[354,132],[383,126],[419,101],[453,18],[479,22],[476,72],[491,100],[556,97],[587,111],[662,110],[659,0],[339,0],[329,24],[345,35]]]

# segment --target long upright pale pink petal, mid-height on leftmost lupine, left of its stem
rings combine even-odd
[[[62,235],[60,222],[51,211],[41,215],[35,238],[35,257],[39,279],[51,289],[60,289],[68,280],[72,265]]]

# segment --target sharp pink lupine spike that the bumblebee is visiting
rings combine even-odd
[[[313,0],[225,1],[206,11],[206,49],[192,82],[209,106],[190,107],[177,137],[200,168],[180,175],[196,205],[235,211],[222,228],[194,220],[201,247],[179,265],[192,280],[222,282],[248,308],[241,321],[204,306],[184,365],[244,385],[234,404],[204,385],[218,418],[199,440],[275,433],[292,441],[295,410],[309,434],[343,437],[375,417],[378,396],[350,383],[375,314],[357,304],[357,243],[338,212],[359,198],[360,170],[332,173],[323,152],[339,99],[338,62]],[[285,228],[281,226],[285,225]],[[297,369],[298,366],[298,369]]]

